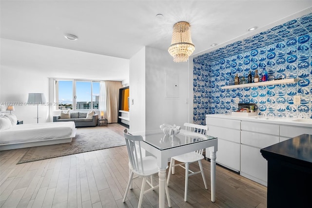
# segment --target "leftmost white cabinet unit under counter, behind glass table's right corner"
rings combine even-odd
[[[208,134],[218,138],[216,163],[236,172],[240,169],[240,120],[207,118]],[[210,151],[206,149],[206,157]]]

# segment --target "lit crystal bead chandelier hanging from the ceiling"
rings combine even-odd
[[[174,57],[174,62],[187,62],[194,50],[189,22],[177,22],[174,25],[171,45],[168,48],[168,52]]]

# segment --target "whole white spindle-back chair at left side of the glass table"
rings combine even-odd
[[[154,186],[153,181],[152,181],[152,175],[158,173],[157,161],[156,161],[156,158],[153,156],[147,156],[147,157],[142,156],[142,150],[141,150],[141,142],[143,141],[142,136],[131,135],[127,132],[127,129],[123,130],[123,134],[126,139],[126,145],[127,145],[128,154],[129,154],[129,170],[130,170],[129,181],[128,181],[125,195],[123,197],[123,202],[126,201],[126,197],[128,195],[129,189],[132,189],[132,181],[134,179],[137,179],[138,177],[142,177],[143,182],[142,182],[140,198],[139,198],[138,206],[137,206],[138,208],[140,208],[142,205],[142,201],[143,201],[143,194],[159,187],[159,185]],[[134,174],[136,174],[136,176],[134,176]],[[147,180],[147,178],[149,177],[151,177],[151,181]],[[150,186],[148,190],[144,190],[145,184],[148,184]],[[167,200],[168,200],[168,206],[171,207],[171,201],[170,201],[167,183],[165,186],[165,190],[166,190],[166,195],[167,195]]]

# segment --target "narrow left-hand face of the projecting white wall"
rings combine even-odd
[[[130,132],[145,131],[145,47],[130,59]],[[133,104],[132,104],[133,100]]]

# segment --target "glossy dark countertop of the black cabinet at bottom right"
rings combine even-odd
[[[262,156],[312,167],[312,135],[302,134],[260,150]]]

